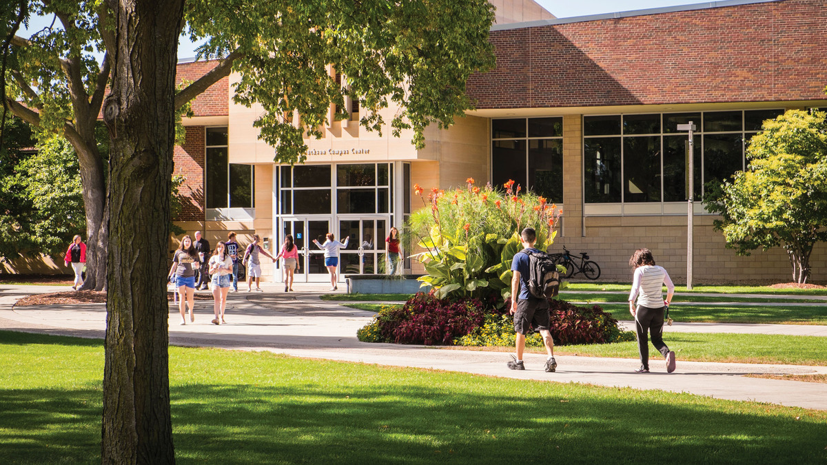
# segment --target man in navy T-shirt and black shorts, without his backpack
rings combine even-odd
[[[520,232],[520,242],[523,243],[524,252],[541,252],[534,248],[537,242],[537,232],[533,228],[525,228]],[[540,299],[531,295],[528,291],[528,280],[531,279],[531,268],[529,267],[528,253],[517,253],[511,261],[511,309],[510,314],[514,315],[514,332],[516,338],[514,346],[517,356],[511,356],[512,360],[506,365],[512,370],[525,370],[523,365],[523,351],[525,350],[525,335],[531,325],[543,336],[543,343],[546,345],[545,370],[555,372],[557,361],[554,360],[554,339],[552,338],[551,316],[548,314],[548,300]]]

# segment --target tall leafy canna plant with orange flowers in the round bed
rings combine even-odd
[[[411,215],[407,229],[423,250],[413,256],[428,272],[419,280],[437,298],[477,297],[501,306],[511,295],[511,261],[523,248],[519,232],[534,228],[535,247],[552,245],[562,210],[542,196],[520,194],[513,180],[503,188],[479,188],[468,178],[464,189],[431,189],[426,201],[424,189],[414,185],[423,208]]]

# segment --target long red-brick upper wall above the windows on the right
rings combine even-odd
[[[477,108],[825,98],[827,0],[786,0],[492,31]]]

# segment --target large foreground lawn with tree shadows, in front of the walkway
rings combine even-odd
[[[0,332],[10,463],[99,463],[100,341]],[[36,369],[33,369],[35,368]],[[170,348],[179,463],[824,463],[827,412]]]

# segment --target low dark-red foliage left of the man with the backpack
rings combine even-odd
[[[450,345],[455,338],[483,324],[484,315],[480,300],[438,300],[419,293],[402,308],[380,309],[356,336],[370,343]]]

